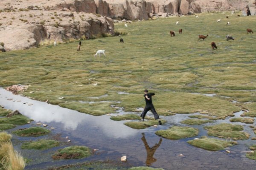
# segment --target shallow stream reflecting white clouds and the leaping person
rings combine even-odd
[[[149,127],[143,130],[134,130],[123,125],[125,121],[112,121],[110,116],[92,116],[84,113],[79,113],[67,108],[61,108],[56,105],[50,105],[46,102],[38,102],[26,97],[13,95],[11,92],[0,88],[0,105],[4,105],[7,109],[19,110],[20,113],[34,119],[35,122],[46,123],[49,126],[55,127],[52,130],[53,135],[60,133],[62,137],[69,136],[71,144],[86,145],[92,149],[99,149],[99,154],[91,156],[86,159],[79,160],[59,160],[53,161],[50,156],[54,148],[49,151],[40,150],[20,150],[21,154],[28,159],[32,159],[26,169],[44,169],[50,165],[60,166],[64,164],[74,164],[82,161],[97,161],[97,160],[120,160],[120,157],[127,155],[128,163],[133,166],[150,165],[152,167],[161,167],[165,170],[205,170],[212,169],[212,166],[218,166],[219,169],[233,169],[233,170],[253,170],[256,166],[256,161],[245,158],[245,150],[248,150],[245,143],[250,143],[251,140],[239,141],[239,145],[230,147],[232,154],[227,154],[224,151],[210,152],[197,147],[193,147],[186,143],[195,137],[207,135],[204,130],[204,125],[213,125],[226,120],[218,120],[213,124],[204,124],[201,126],[192,126],[199,128],[198,136],[182,140],[168,140],[161,139],[155,135],[156,130],[167,129],[172,125],[187,126],[181,124],[180,121],[189,119],[191,114],[176,114],[175,116],[166,116],[166,125]],[[15,102],[7,100],[12,98]],[[21,101],[21,102],[16,102]],[[26,104],[23,104],[26,103]],[[33,105],[28,105],[29,103]],[[116,112],[118,114],[127,114],[133,112],[124,112],[122,108]],[[140,113],[137,113],[140,114]],[[236,113],[235,116],[240,113]],[[148,113],[148,116],[153,116]],[[32,124],[35,124],[32,122]],[[239,123],[238,123],[239,124]],[[244,125],[244,131],[249,131],[251,128]],[[30,127],[31,125],[24,125],[21,127]],[[16,128],[16,129],[17,129]],[[12,130],[8,130],[10,132]],[[142,133],[144,133],[144,138]],[[252,130],[250,133],[253,133]],[[39,138],[24,138],[13,136],[13,140],[37,140]],[[41,138],[44,138],[41,137]],[[160,140],[162,140],[160,142]],[[20,145],[15,145],[15,149],[20,149]],[[49,153],[48,153],[49,152]],[[184,157],[178,157],[182,153]],[[47,159],[38,162],[37,159],[46,157]],[[242,168],[241,168],[242,167]]]

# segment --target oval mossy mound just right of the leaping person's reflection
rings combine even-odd
[[[198,135],[199,130],[193,127],[172,126],[167,130],[157,130],[156,135],[166,139],[182,139]]]

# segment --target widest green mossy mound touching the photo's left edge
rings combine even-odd
[[[12,125],[26,125],[29,121],[31,121],[31,119],[23,115],[15,115],[12,117],[0,118],[0,124],[8,123]]]

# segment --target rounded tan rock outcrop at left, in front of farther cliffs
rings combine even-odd
[[[26,17],[25,14],[19,17],[19,14],[23,15],[23,13],[17,15],[15,12],[1,14],[6,18],[1,20],[5,24],[0,26],[0,40],[4,42],[4,48],[9,50],[37,47],[44,40],[63,42],[70,38],[114,34],[113,20],[94,14],[73,13],[71,15],[71,12],[67,11],[44,11],[42,15],[41,11],[37,10],[29,11],[33,17]],[[11,19],[12,17],[15,19]],[[26,22],[24,22],[25,18]],[[10,20],[13,21],[12,25],[9,25]],[[45,22],[42,22],[44,20]]]

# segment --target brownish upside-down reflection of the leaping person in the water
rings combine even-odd
[[[152,163],[154,163],[155,161],[157,161],[157,159],[155,159],[154,153],[156,152],[157,148],[160,146],[160,144],[162,143],[162,138],[160,138],[159,142],[157,144],[155,144],[153,147],[149,147],[148,146],[148,142],[146,141],[145,135],[144,133],[142,133],[143,137],[141,138],[141,140],[143,141],[146,151],[147,151],[147,160],[146,160],[146,165],[149,167],[151,166]]]

